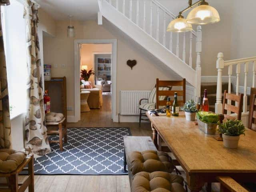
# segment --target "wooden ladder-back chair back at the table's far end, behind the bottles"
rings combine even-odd
[[[159,90],[160,87],[172,87],[171,90]],[[174,90],[174,86],[182,86],[182,90]],[[160,81],[156,79],[156,108],[159,106],[166,106],[166,100],[159,100],[159,96],[174,96],[174,92],[177,92],[178,98],[182,96],[182,100],[178,100],[178,105],[182,106],[186,102],[186,79],[181,81]],[[171,101],[172,103],[173,101]]]

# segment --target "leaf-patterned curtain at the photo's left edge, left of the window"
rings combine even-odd
[[[7,3],[7,2],[4,2]],[[0,1],[2,5],[2,1]],[[0,9],[0,147],[11,148],[11,126],[9,111],[9,96],[7,86],[7,72],[4,55],[4,40],[1,25],[1,9]]]

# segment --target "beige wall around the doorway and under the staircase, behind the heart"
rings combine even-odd
[[[73,109],[68,111],[68,116],[74,116],[74,105],[80,102],[74,101],[74,39],[66,37],[68,24],[68,21],[56,22],[56,37],[44,38],[44,63],[58,66],[52,68],[52,76],[66,76],[67,105]],[[93,20],[73,24],[76,39],[117,39],[117,113],[120,90],[150,90],[156,78],[177,79],[170,69],[163,68],[160,61],[107,20],[103,20],[102,26]],[[137,60],[133,70],[126,65],[129,59]]]

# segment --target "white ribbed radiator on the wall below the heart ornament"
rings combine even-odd
[[[121,90],[120,91],[120,115],[139,115],[139,101],[149,98],[151,90]],[[147,102],[144,100],[142,102]]]

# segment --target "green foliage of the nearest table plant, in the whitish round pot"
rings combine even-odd
[[[239,136],[245,135],[245,128],[240,120],[227,120],[224,123],[218,123],[219,128],[218,131],[221,134],[225,134],[228,136]]]

